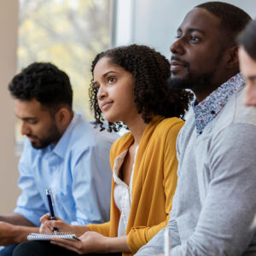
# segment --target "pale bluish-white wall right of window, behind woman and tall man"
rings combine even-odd
[[[124,3],[126,7],[124,8]],[[127,8],[130,3],[131,8]],[[115,45],[123,44],[147,44],[159,50],[170,58],[170,45],[177,35],[177,27],[190,9],[205,0],[117,0],[117,36]],[[256,17],[255,0],[226,0],[221,1],[234,4],[247,11],[253,18]],[[130,19],[132,32],[127,33],[125,27],[127,19]],[[124,29],[120,29],[125,22]],[[129,37],[127,37],[129,35]]]

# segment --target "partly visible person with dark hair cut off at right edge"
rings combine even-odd
[[[256,20],[241,32],[238,41],[241,73],[247,82],[244,103],[256,108]]]

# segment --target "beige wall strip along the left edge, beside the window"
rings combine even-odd
[[[8,84],[16,73],[18,0],[0,1],[0,214],[12,212],[17,188],[15,114]]]

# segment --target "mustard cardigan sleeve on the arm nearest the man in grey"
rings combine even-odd
[[[163,170],[163,186],[166,195],[166,219],[151,227],[139,226],[131,229],[128,234],[127,243],[132,254],[137,253],[140,247],[143,247],[154,235],[165,228],[168,223],[169,212],[171,212],[172,208],[172,197],[177,187],[176,139],[182,126],[183,121],[180,120],[175,125],[172,125],[166,135]]]

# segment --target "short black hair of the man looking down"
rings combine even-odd
[[[66,107],[72,111],[73,90],[67,73],[49,62],[34,62],[9,83],[9,91],[20,101],[37,100],[51,113]]]

